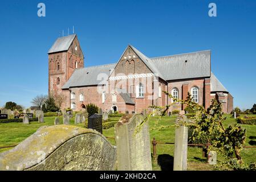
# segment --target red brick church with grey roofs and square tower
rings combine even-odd
[[[213,98],[225,113],[233,110],[233,97],[211,72],[211,52],[147,57],[135,47],[125,48],[115,64],[84,68],[84,55],[76,34],[58,38],[48,51],[48,92],[62,94],[62,108],[80,110],[93,103],[103,111],[141,113],[151,105],[172,104],[174,98],[209,107]],[[172,110],[184,110],[180,103]]]

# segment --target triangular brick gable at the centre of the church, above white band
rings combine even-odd
[[[139,75],[145,73],[152,73],[140,57],[128,46],[116,64],[115,71],[111,76],[117,75]]]

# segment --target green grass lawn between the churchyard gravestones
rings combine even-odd
[[[231,115],[226,115],[227,119],[224,122],[224,125],[234,124],[235,119]],[[23,125],[23,123],[0,123],[0,147],[1,146],[10,146],[22,142],[24,139],[29,137],[31,134],[41,126],[51,126],[54,125],[55,117],[44,117],[44,123],[31,122],[30,125]],[[175,121],[174,116],[172,117],[163,117],[161,121],[155,125],[157,117],[151,118],[149,125],[151,129],[153,127],[174,125]],[[110,121],[118,121],[119,117],[109,118]],[[62,117],[60,117],[62,122]],[[70,120],[71,125],[74,125],[74,118]],[[76,126],[84,127],[84,124],[79,124]],[[250,138],[256,138],[256,125],[241,125],[243,128],[246,128],[246,146],[251,146],[249,144]],[[173,142],[174,143],[174,127],[165,128],[162,130],[151,130],[150,137],[151,141],[155,137],[159,142]],[[110,129],[103,130],[103,135],[105,137],[115,137],[114,127]],[[115,145],[114,139],[108,139],[113,145]],[[11,147],[10,147],[11,148]],[[10,150],[10,148],[2,148],[0,152]],[[173,144],[157,144],[157,155],[168,154],[173,156],[174,145]],[[152,151],[152,145],[151,145]],[[245,163],[256,162],[256,148],[244,148],[242,153],[242,159]],[[221,159],[220,155],[217,156],[217,159]],[[206,159],[202,157],[202,148],[200,147],[188,147],[188,170],[213,170],[214,167],[205,163]],[[156,162],[153,162],[153,169],[160,170],[160,167]]]

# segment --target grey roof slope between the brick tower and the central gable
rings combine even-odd
[[[105,74],[106,80],[112,73],[116,64],[105,64],[94,67],[75,69],[70,79],[62,86],[62,89],[68,89],[76,86],[98,85],[103,81],[103,78],[97,78],[100,73]]]

